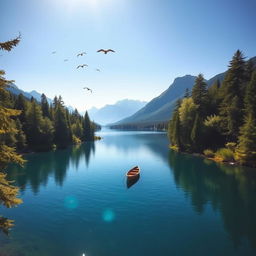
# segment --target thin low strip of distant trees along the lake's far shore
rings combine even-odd
[[[155,122],[155,123],[131,123],[131,124],[120,124],[112,125],[111,129],[120,129],[120,130],[148,130],[148,131],[166,131],[168,129],[168,122]]]

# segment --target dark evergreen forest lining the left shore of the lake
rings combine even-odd
[[[94,132],[99,128],[90,121],[88,113],[81,116],[77,110],[72,113],[65,107],[61,98],[55,97],[49,104],[44,94],[41,102],[33,97],[15,96],[7,90],[0,91],[2,107],[19,110],[12,118],[12,129],[16,133],[5,134],[1,141],[15,147],[19,152],[46,151],[64,148],[70,144],[94,140]]]

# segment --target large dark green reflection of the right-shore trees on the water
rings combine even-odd
[[[255,169],[218,165],[175,152],[169,153],[169,165],[176,184],[189,195],[198,214],[211,204],[221,213],[236,247],[247,238],[256,248]]]

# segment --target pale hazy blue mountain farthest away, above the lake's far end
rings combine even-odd
[[[136,111],[143,108],[146,103],[145,101],[124,99],[113,105],[106,105],[100,109],[93,107],[89,109],[88,113],[91,120],[106,125],[134,114]]]

